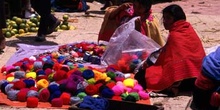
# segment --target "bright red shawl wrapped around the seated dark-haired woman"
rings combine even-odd
[[[164,90],[176,81],[195,78],[201,72],[205,51],[191,24],[180,20],[169,31],[157,62],[146,69],[148,89]]]

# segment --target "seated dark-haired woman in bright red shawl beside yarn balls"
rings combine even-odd
[[[169,5],[163,9],[162,14],[164,27],[169,30],[167,42],[156,52],[159,55],[155,63],[149,65],[145,62],[143,68],[135,74],[135,79],[148,90],[177,95],[178,90],[186,89],[184,84],[187,84],[186,87],[194,86],[205,51],[180,6]]]

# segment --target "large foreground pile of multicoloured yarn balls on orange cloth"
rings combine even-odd
[[[39,101],[62,107],[76,104],[85,96],[127,101],[149,98],[136,80],[112,68],[100,71],[50,58],[33,59],[32,56],[1,69],[6,75],[0,81],[1,92],[12,101],[27,102],[27,107],[37,107]]]

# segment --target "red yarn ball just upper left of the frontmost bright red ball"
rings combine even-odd
[[[27,93],[28,93],[29,89],[24,88],[21,89],[18,93],[17,93],[17,100],[21,101],[21,102],[25,102],[27,100]]]

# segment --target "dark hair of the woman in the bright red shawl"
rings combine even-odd
[[[186,20],[186,15],[183,9],[179,5],[176,5],[176,4],[167,6],[166,8],[163,9],[162,13],[170,14],[171,16],[173,16],[174,21]]]

